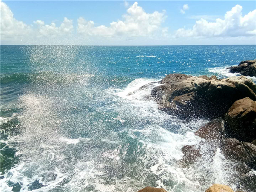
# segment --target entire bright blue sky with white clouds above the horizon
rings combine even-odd
[[[0,1],[1,44],[256,44],[256,1]]]

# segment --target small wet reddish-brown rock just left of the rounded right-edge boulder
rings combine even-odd
[[[195,132],[195,135],[205,140],[221,140],[224,137],[224,120],[213,119]]]

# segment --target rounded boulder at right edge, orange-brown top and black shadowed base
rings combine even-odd
[[[252,142],[256,139],[256,101],[240,99],[225,114],[225,127],[229,137]]]

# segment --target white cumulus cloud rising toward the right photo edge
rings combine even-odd
[[[224,20],[218,18],[209,22],[203,18],[196,21],[192,29],[181,28],[176,31],[176,37],[239,37],[256,35],[256,9],[242,16],[242,7],[234,6],[225,14]]]

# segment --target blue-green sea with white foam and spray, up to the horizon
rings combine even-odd
[[[219,150],[199,165],[179,164],[207,120],[159,111],[146,99],[151,89],[128,93],[169,73],[239,75],[226,68],[255,58],[255,45],[1,46],[0,191],[236,189]]]

